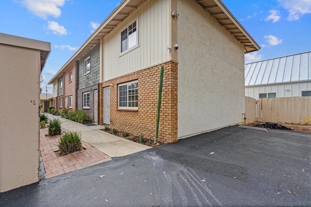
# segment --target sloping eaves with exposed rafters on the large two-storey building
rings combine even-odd
[[[86,42],[72,55],[72,57],[64,64],[59,73],[65,67],[73,62],[78,61],[86,55],[86,53],[94,48],[101,38],[104,38],[127,16],[135,12],[140,5],[146,0],[123,0],[117,8],[104,20],[104,22],[89,36]],[[230,13],[221,0],[194,0],[211,16],[213,16],[220,25],[226,28],[234,37],[244,46],[244,52],[253,52],[260,49],[255,40],[246,32],[238,20]],[[58,76],[56,74],[55,76]],[[55,77],[52,79],[55,81]],[[51,84],[53,81],[50,81]]]

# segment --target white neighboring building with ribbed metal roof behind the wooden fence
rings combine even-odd
[[[311,51],[245,64],[245,96],[311,96]]]

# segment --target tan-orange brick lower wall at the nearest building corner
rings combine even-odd
[[[164,66],[163,90],[158,140],[177,142],[177,64],[168,62],[137,71],[113,80],[100,87],[100,124],[103,124],[103,88],[110,86],[110,127],[133,134],[155,138],[156,109],[160,68]],[[118,84],[138,80],[138,110],[118,109]]]

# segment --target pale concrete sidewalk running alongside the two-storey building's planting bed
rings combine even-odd
[[[74,121],[70,121],[68,119],[63,119],[60,116],[48,114],[48,118],[53,117],[59,118],[61,120],[62,127],[64,129],[68,131],[81,131],[82,140],[104,152],[111,158],[130,155],[151,148],[149,146],[134,143],[121,137],[104,132],[101,130],[104,129],[104,126],[86,126]]]

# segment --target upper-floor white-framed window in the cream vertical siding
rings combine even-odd
[[[121,31],[121,53],[138,45],[138,24],[135,20],[132,24]]]

